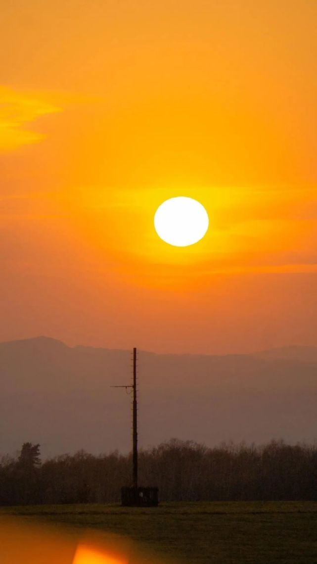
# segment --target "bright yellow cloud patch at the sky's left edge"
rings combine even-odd
[[[8,152],[23,145],[38,143],[45,134],[29,129],[38,117],[60,112],[45,94],[0,87],[0,151]]]

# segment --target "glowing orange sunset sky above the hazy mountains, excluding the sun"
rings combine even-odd
[[[317,346],[317,3],[12,0],[0,21],[0,340]],[[196,245],[157,236],[199,200]]]

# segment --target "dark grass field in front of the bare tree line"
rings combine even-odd
[[[162,561],[183,564],[317,563],[317,502],[44,505],[0,508],[0,515],[54,522],[67,530],[121,534]],[[19,563],[20,564],[20,563]],[[22,563],[23,564],[23,563]]]

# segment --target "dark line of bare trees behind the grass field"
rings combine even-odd
[[[24,443],[0,461],[0,504],[120,501],[131,484],[131,454],[85,451],[41,462],[39,444]],[[171,439],[139,452],[139,483],[164,501],[317,500],[317,446],[272,440],[263,446]]]

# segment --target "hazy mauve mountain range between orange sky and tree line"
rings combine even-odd
[[[317,438],[317,349],[253,355],[139,352],[139,443]],[[37,337],[0,343],[0,452],[130,450],[130,351]],[[128,391],[128,390],[127,390]]]

